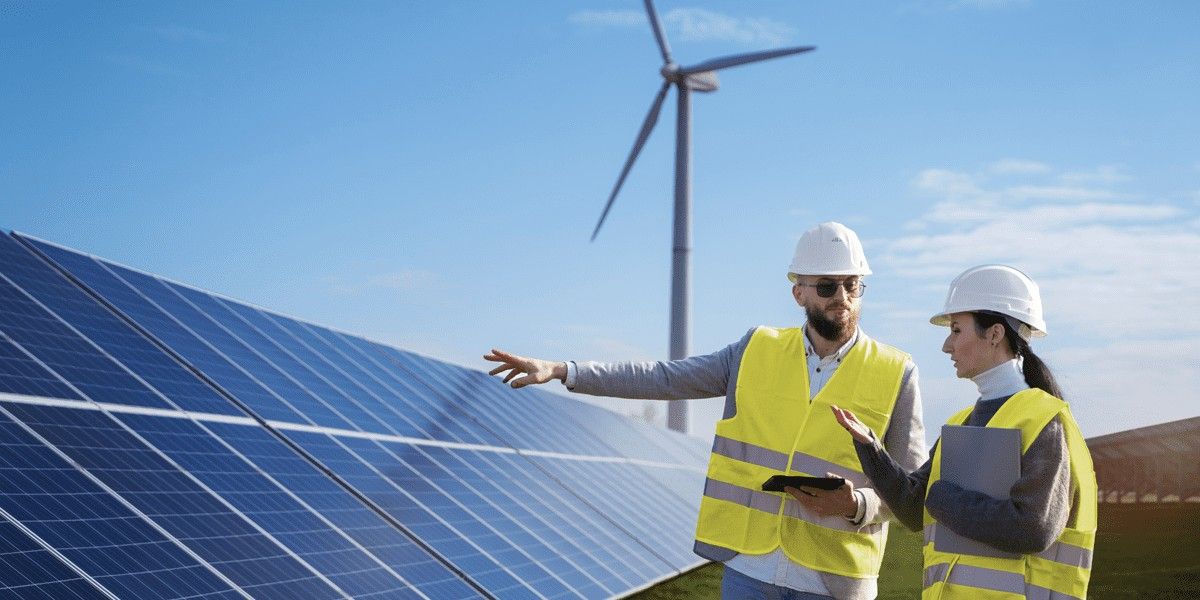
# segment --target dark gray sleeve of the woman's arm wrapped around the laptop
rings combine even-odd
[[[1021,476],[1009,499],[942,480],[930,487],[926,504],[934,518],[959,535],[1022,554],[1048,548],[1062,534],[1070,512],[1070,462],[1062,422],[1050,421],[1021,455]]]

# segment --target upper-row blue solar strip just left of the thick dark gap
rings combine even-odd
[[[212,388],[7,235],[0,235],[0,272],[180,408],[241,414]]]

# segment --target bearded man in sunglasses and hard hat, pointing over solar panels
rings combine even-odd
[[[821,223],[800,236],[787,277],[803,328],[758,326],[706,356],[668,362],[554,362],[493,349],[514,388],[558,379],[599,396],[648,400],[725,395],[708,464],[695,552],[725,563],[725,599],[871,599],[890,516],[865,486],[852,438],[830,406],[858,407],[888,454],[924,461],[917,367],[858,328],[863,277],[858,235]],[[520,376],[520,377],[518,377]],[[778,473],[836,474],[832,491],[761,491]]]

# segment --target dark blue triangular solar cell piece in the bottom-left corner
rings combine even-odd
[[[0,517],[0,596],[20,600],[107,598],[4,517]]]

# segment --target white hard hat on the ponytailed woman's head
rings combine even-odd
[[[950,314],[956,312],[991,311],[1015,319],[1012,323],[1025,340],[1046,335],[1046,323],[1042,318],[1042,293],[1028,275],[1002,264],[972,266],[950,282],[942,312],[929,322],[935,325],[950,324]]]

